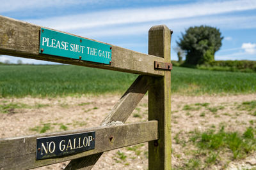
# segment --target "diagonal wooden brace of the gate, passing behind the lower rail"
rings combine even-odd
[[[131,87],[115,104],[109,115],[104,118],[101,125],[109,125],[115,122],[126,122],[132,111],[140,103],[142,97],[148,90],[148,76],[138,76]],[[99,160],[102,153],[90,155],[88,157],[71,160],[65,169],[92,169],[93,165]],[[94,163],[93,163],[94,162]]]

